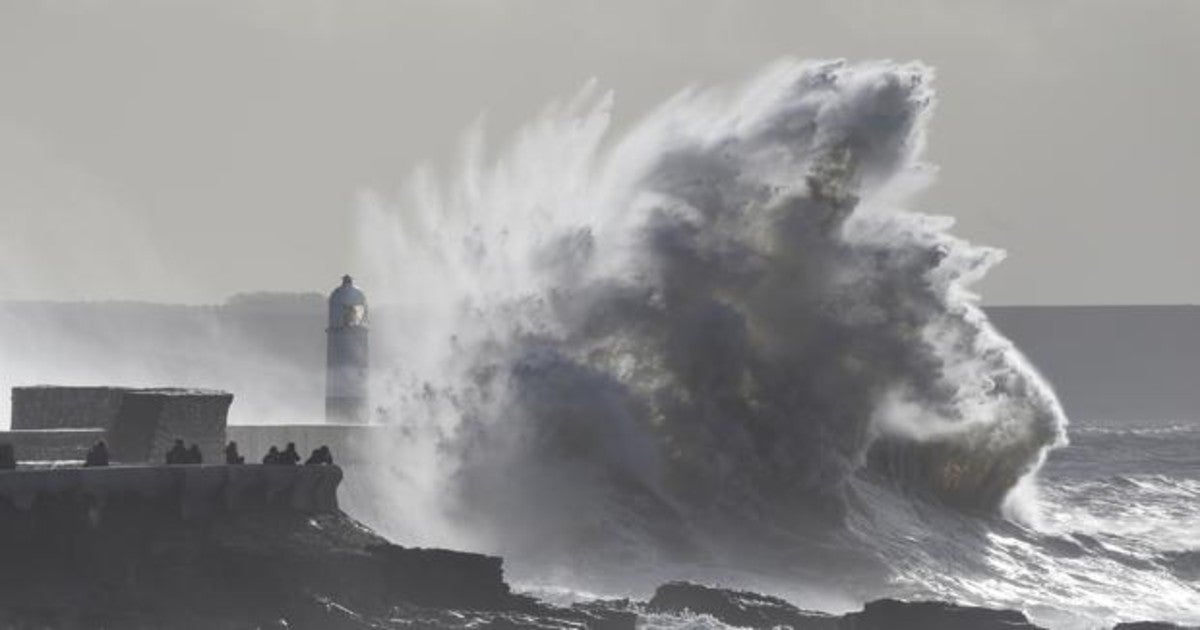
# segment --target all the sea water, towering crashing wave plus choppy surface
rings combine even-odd
[[[1003,252],[913,208],[932,79],[784,60],[623,136],[588,86],[370,198],[376,295],[420,322],[383,330],[400,538],[539,592],[1200,623],[1196,433],[1068,422],[988,320]]]

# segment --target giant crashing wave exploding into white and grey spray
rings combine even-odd
[[[862,482],[1000,511],[1066,419],[968,290],[1002,252],[901,206],[932,179],[930,80],[782,61],[616,142],[588,86],[373,202],[408,310],[391,448],[436,470],[391,480],[439,512],[407,518],[586,562],[836,529]]]

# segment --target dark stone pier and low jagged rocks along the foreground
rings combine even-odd
[[[337,508],[341,480],[334,466],[0,472],[0,629],[634,630],[661,616],[703,628],[1038,628],[943,602],[832,616],[686,582],[648,602],[551,606],[514,593],[498,557],[374,534]]]

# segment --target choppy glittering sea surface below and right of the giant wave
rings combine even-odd
[[[1051,629],[1200,625],[1200,424],[1085,420],[1069,434],[1036,486],[1018,491],[1031,511],[970,515],[864,480],[844,532],[820,551],[778,550],[793,563],[790,576],[779,566],[767,575],[676,565],[655,578],[673,570],[839,613],[899,596],[1020,610]],[[820,570],[809,570],[814,562]],[[552,590],[534,593],[556,599]],[[725,628],[704,616],[653,614],[644,624]]]

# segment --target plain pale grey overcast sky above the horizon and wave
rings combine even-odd
[[[625,125],[784,55],[937,70],[923,210],[989,304],[1200,302],[1200,1],[0,4],[0,299],[326,290],[355,197],[595,77]]]

